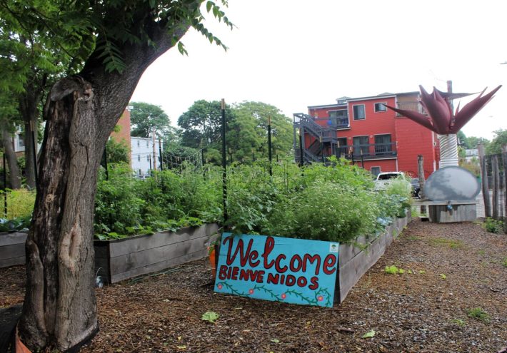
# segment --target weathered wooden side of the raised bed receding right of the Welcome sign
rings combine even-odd
[[[359,237],[356,244],[340,244],[340,253],[338,258],[338,284],[335,293],[335,302],[343,302],[348,292],[352,289],[362,275],[368,269],[375,265],[378,259],[391,245],[393,239],[397,237],[408,222],[411,216],[405,218],[396,218],[392,225],[386,227],[386,231],[378,237]]]

